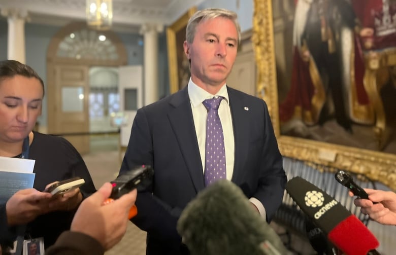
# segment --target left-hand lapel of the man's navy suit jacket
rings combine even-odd
[[[174,107],[168,113],[180,151],[183,155],[187,170],[190,174],[196,192],[205,188],[204,173],[201,156],[196,140],[196,132],[191,111],[191,103],[188,97],[187,87],[177,92],[170,104]],[[182,170],[182,169],[181,169]]]

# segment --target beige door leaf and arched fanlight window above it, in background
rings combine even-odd
[[[48,133],[88,153],[89,68],[126,64],[126,49],[114,32],[92,30],[85,22],[61,28],[47,51]]]

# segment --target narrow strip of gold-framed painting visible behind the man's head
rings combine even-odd
[[[186,27],[196,7],[188,9],[178,20],[167,28],[169,90],[173,94],[187,85],[190,78],[189,63],[184,54],[183,42],[186,39]],[[185,84],[183,84],[185,83]]]

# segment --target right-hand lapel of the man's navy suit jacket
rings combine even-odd
[[[245,110],[241,93],[227,87],[229,106],[233,118],[234,140],[235,140],[235,159],[232,181],[236,184],[243,176],[243,163],[247,160],[249,132],[246,123],[249,123],[248,112]]]

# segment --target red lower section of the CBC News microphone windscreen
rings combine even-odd
[[[379,245],[370,230],[353,214],[334,227],[327,237],[348,255],[366,255]]]

